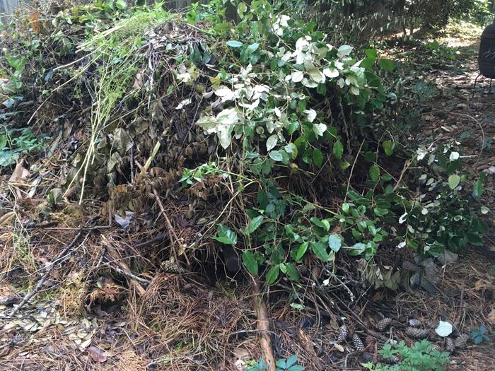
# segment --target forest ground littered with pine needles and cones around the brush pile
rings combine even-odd
[[[298,354],[305,370],[361,370],[362,353],[354,352],[346,343],[331,345],[339,329],[337,319],[347,317],[349,326],[359,329],[371,361],[380,348],[378,340],[414,341],[404,333],[408,319],[419,319],[425,326],[440,319],[452,323],[458,334],[486,329],[491,336],[491,341],[469,341],[465,348],[458,348],[448,370],[495,370],[495,87],[490,90],[489,81],[482,78],[473,89],[478,38],[478,28],[458,27],[440,40],[453,49],[433,48],[431,58],[411,58],[414,49],[407,47],[397,47],[394,53],[414,67],[408,78],[420,82],[424,89],[424,100],[415,112],[422,129],[411,134],[414,139],[420,142],[429,138],[436,143],[455,139],[464,149],[468,167],[489,174],[485,193],[473,205],[491,210],[486,215],[489,233],[484,247],[438,266],[434,293],[371,288],[354,301],[342,298],[335,307],[327,303],[332,309],[324,313],[313,308],[307,308],[308,312],[293,310],[285,295],[278,294],[284,288],[274,287],[267,305],[277,358]],[[71,241],[76,232],[76,228],[48,228],[32,238],[43,240],[51,233],[52,240]],[[117,249],[117,239],[113,240],[117,233],[103,234],[107,246]],[[100,242],[88,237],[87,243]],[[119,261],[118,256],[115,261]],[[95,259],[94,264],[101,261]],[[57,278],[53,274],[45,283],[46,290],[24,305],[16,319],[0,320],[0,370],[233,371],[244,370],[257,354],[256,314],[245,282],[226,279],[204,283],[196,275],[162,273],[150,277],[151,284],[138,297],[122,282],[109,278],[88,288],[86,271],[74,271],[72,281],[62,288],[53,283]],[[55,298],[50,284],[58,287],[57,295],[62,296]],[[11,310],[8,298],[13,296],[12,285],[0,283],[0,317]],[[82,312],[78,307],[81,298],[86,303]],[[392,318],[389,329],[366,331],[375,328],[383,317]],[[184,334],[197,343],[177,341]],[[431,336],[429,341],[445,347],[443,338]],[[206,353],[215,353],[224,360],[224,366],[206,367]]]

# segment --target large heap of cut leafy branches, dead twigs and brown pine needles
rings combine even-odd
[[[12,367],[274,369],[298,353],[323,369],[345,358],[339,342],[322,356],[345,317],[347,351],[383,340],[349,309],[366,288],[430,288],[433,258],[480,243],[459,153],[410,153],[393,131],[392,61],[269,1],[240,3],[238,25],[220,4],[60,6],[4,31],[2,341],[40,352],[9,345]],[[271,319],[287,315],[301,328]],[[303,329],[322,317],[315,343]]]

